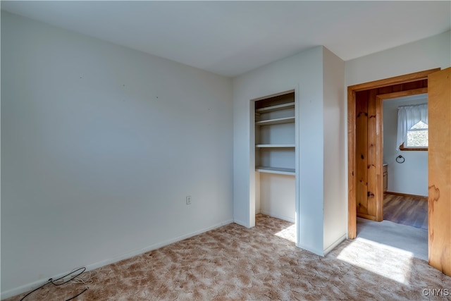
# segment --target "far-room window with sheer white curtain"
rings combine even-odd
[[[428,104],[398,107],[397,149],[428,150]]]

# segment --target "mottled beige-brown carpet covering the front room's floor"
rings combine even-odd
[[[47,285],[25,300],[67,300],[85,287],[74,300],[451,298],[429,293],[451,290],[451,278],[407,252],[360,239],[319,257],[295,247],[293,228],[259,214],[252,229],[232,223],[104,266],[92,284]]]

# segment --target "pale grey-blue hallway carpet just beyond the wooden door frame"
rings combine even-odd
[[[428,231],[421,228],[357,218],[357,239],[409,252],[411,256],[428,261]]]

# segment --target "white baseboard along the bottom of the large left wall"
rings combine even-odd
[[[152,250],[159,249],[160,247],[165,247],[166,245],[171,245],[174,242],[178,242],[180,240],[185,240],[187,238],[191,238],[192,236],[199,235],[199,234],[205,233],[207,231],[211,231],[211,230],[214,230],[216,228],[220,228],[222,226],[226,226],[229,223],[233,223],[233,220],[232,219],[228,219],[228,220],[223,221],[221,223],[217,223],[214,226],[211,226],[211,227],[208,227],[208,228],[204,228],[204,229],[199,230],[199,231],[194,231],[192,233],[187,233],[185,235],[180,235],[180,236],[178,236],[176,238],[172,238],[170,240],[164,240],[163,242],[158,242],[156,244],[149,245],[147,247],[143,247],[140,250],[127,252],[127,253],[121,254],[121,255],[116,256],[116,257],[112,257],[112,258],[109,258],[109,259],[102,260],[101,262],[95,262],[94,264],[89,264],[89,265],[86,266],[86,271],[92,271],[94,269],[98,269],[101,266],[106,266],[107,264],[113,264],[115,262],[120,262],[123,259],[128,259],[128,258],[131,258],[131,257],[135,257],[137,255],[140,255],[140,254],[152,251]],[[58,279],[58,278],[60,278],[60,277],[62,277],[64,275],[68,274],[69,272],[70,271],[66,271],[66,272],[58,274],[56,276],[52,276],[51,278]],[[27,283],[25,285],[20,285],[19,287],[13,288],[11,290],[6,290],[4,292],[1,292],[0,298],[1,298],[1,300],[4,300],[4,299],[7,299],[9,297],[13,297],[13,296],[16,296],[16,295],[28,292],[30,290],[34,290],[35,288],[39,288],[39,286],[47,283],[47,281],[48,281],[48,279],[45,279],[45,280],[41,279],[41,280],[38,280],[38,281],[33,281],[32,283]]]

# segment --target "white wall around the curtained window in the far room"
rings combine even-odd
[[[426,104],[427,95],[404,101],[390,99],[383,102],[383,161],[388,164],[388,191],[409,195],[428,195],[428,152],[397,151],[397,107]],[[396,162],[404,156],[404,163]]]

